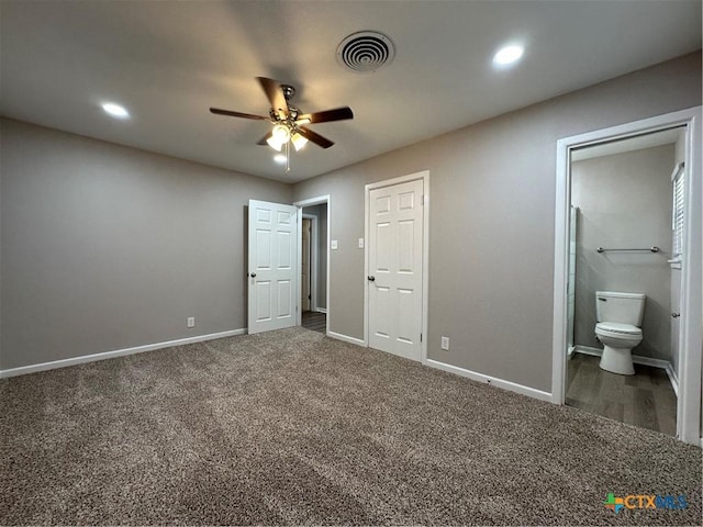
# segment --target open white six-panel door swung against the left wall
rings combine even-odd
[[[249,200],[248,333],[295,325],[298,210]]]

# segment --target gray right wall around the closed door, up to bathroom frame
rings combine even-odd
[[[298,183],[331,194],[331,329],[364,337],[364,186],[427,169],[428,357],[550,391],[557,139],[699,104],[700,52]]]

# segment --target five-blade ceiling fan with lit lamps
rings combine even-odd
[[[261,137],[257,144],[268,144],[278,152],[281,152],[284,145],[287,158],[289,142],[293,144],[295,150],[300,150],[309,141],[322,148],[330,148],[334,145],[332,141],[308,128],[305,126],[306,124],[354,119],[354,113],[349,106],[335,108],[334,110],[315,113],[302,113],[299,108],[289,104],[290,99],[295,94],[295,88],[290,85],[282,85],[274,79],[267,79],[266,77],[257,77],[256,79],[259,81],[259,85],[261,85],[271,104],[268,116],[222,110],[219,108],[211,108],[210,111],[216,115],[269,121],[274,127],[268,134]]]

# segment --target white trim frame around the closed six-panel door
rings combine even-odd
[[[369,249],[368,239],[370,234],[369,211],[371,190],[381,189],[383,187],[392,187],[398,183],[406,183],[408,181],[422,180],[423,182],[423,233],[422,233],[422,341],[420,345],[420,361],[427,363],[427,306],[428,306],[428,277],[429,277],[429,170],[401,176],[399,178],[386,179],[376,183],[369,183],[365,187],[364,198],[364,237],[367,243],[364,244],[364,346],[369,345],[369,281],[366,277],[369,274]]]

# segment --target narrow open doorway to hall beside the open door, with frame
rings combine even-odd
[[[298,202],[300,317],[299,325],[327,334],[330,200],[320,197]]]

